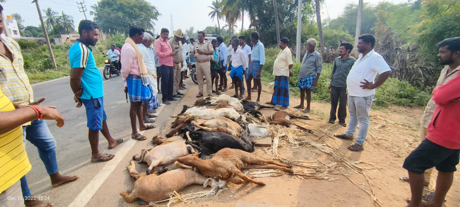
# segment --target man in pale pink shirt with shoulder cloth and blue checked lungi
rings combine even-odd
[[[155,128],[153,125],[145,125],[141,111],[142,102],[153,105],[152,88],[147,77],[142,55],[136,45],[142,42],[144,32],[145,30],[141,26],[131,26],[129,28],[129,37],[126,39],[123,47],[121,47],[121,52],[123,53],[123,57],[121,58],[121,76],[123,76],[123,83],[125,84],[125,93],[129,94],[129,101],[131,101],[129,109],[132,128],[131,138],[135,140],[147,139],[138,132],[136,117],[139,121],[139,130]],[[153,108],[153,106],[149,106],[150,108]]]

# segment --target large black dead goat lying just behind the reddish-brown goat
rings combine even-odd
[[[195,131],[195,124],[191,123],[181,129],[184,133],[186,143],[192,145],[198,151],[201,151],[200,157],[209,157],[209,155],[228,147],[242,151],[253,152],[255,143],[249,138],[249,130],[246,124],[246,130],[240,134],[240,137],[234,137],[222,132],[204,132]]]

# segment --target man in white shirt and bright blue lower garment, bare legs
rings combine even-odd
[[[238,100],[243,99],[243,68],[247,67],[246,55],[243,50],[238,48],[239,41],[238,39],[231,40],[231,72],[230,77],[233,80],[235,85],[235,95],[234,98]],[[240,90],[240,95],[238,95],[238,90]]]

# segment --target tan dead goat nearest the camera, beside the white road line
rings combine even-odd
[[[160,172],[146,175],[145,173],[138,173],[134,161],[131,161],[127,169],[130,176],[135,179],[132,191],[125,191],[120,194],[127,203],[132,203],[137,198],[146,202],[161,201],[169,198],[170,193],[179,192],[192,184],[203,185],[203,188],[211,185],[211,188],[218,190],[226,185],[223,180],[207,178],[188,168],[170,171],[164,168]]]

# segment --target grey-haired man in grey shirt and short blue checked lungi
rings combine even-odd
[[[304,112],[310,112],[311,90],[318,84],[318,78],[321,75],[322,62],[321,55],[315,50],[316,39],[307,40],[307,53],[302,61],[302,67],[299,72],[300,105],[294,108],[305,108],[304,100],[307,95],[307,108]]]

